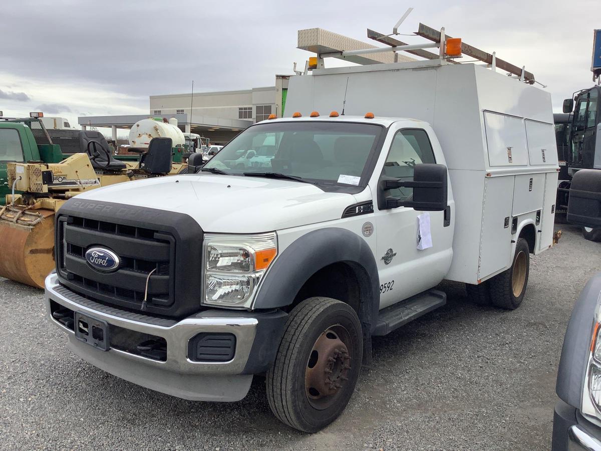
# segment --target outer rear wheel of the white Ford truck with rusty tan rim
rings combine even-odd
[[[522,304],[528,286],[530,250],[528,242],[518,238],[511,268],[490,279],[490,301],[496,307],[515,310]]]

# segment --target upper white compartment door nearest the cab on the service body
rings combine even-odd
[[[526,129],[519,117],[484,111],[490,166],[528,164]]]

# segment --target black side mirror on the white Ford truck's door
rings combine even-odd
[[[411,200],[385,197],[386,189],[413,188]],[[416,164],[413,180],[401,182],[397,179],[380,180],[378,206],[380,209],[412,207],[414,210],[439,212],[447,208],[447,167],[442,164]]]

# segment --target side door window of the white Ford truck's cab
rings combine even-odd
[[[392,140],[383,175],[409,182],[413,180],[415,165],[421,163],[436,163],[426,130],[400,130]],[[413,188],[388,189],[385,195],[398,200],[411,200]]]

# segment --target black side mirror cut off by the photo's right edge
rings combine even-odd
[[[601,227],[601,171],[581,169],[572,177],[567,222]]]

